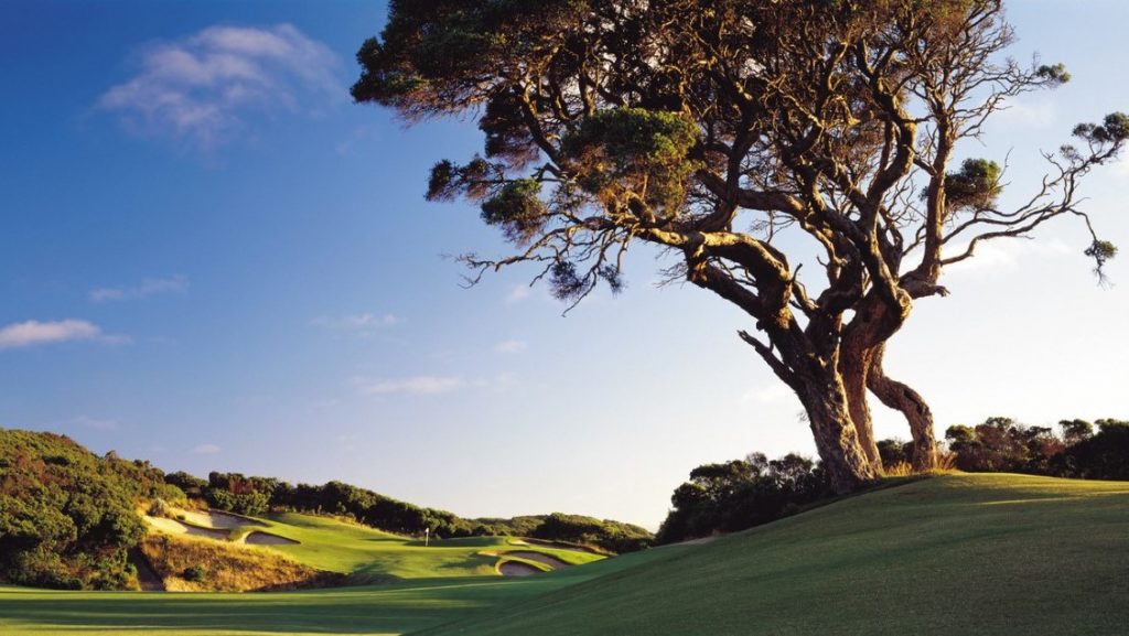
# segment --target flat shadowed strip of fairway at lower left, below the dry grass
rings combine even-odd
[[[0,634],[404,634],[515,605],[685,548],[633,552],[526,578],[422,578],[365,587],[246,594],[56,592],[0,586]]]

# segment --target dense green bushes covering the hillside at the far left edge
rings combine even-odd
[[[160,470],[68,437],[0,429],[0,581],[60,589],[134,584],[141,499],[183,499]]]

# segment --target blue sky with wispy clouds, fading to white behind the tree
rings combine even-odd
[[[1073,125],[1129,110],[1129,5],[1013,1],[1019,59],[1075,80],[1024,97],[971,155],[1010,191]],[[467,516],[650,526],[693,467],[812,453],[799,404],[706,293],[629,288],[568,317],[528,270],[460,286],[444,254],[504,245],[428,167],[481,141],[352,105],[383,2],[0,3],[0,426],[166,470],[342,479]],[[1086,183],[1129,246],[1129,163]],[[1129,417],[1129,268],[1094,285],[1080,228],[999,244],[919,303],[887,369],[943,430]],[[879,433],[905,436],[891,413]]]

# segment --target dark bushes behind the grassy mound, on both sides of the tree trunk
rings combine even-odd
[[[992,417],[945,433],[947,463],[968,472],[1021,472],[1079,479],[1129,480],[1129,421],[1071,419],[1026,426]],[[877,443],[887,473],[907,472],[913,443]],[[793,514],[832,496],[819,463],[789,454],[769,461],[763,453],[695,468],[671,497],[673,508],[658,530],[658,543],[735,532]]]

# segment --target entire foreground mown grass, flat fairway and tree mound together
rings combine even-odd
[[[702,546],[522,580],[0,591],[3,634],[1109,635],[1126,625],[1129,483],[1005,474],[929,479]]]

